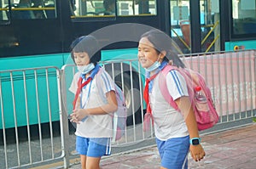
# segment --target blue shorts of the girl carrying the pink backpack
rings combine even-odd
[[[161,141],[156,138],[161,166],[169,169],[188,168],[189,136]],[[184,166],[183,166],[184,164]]]

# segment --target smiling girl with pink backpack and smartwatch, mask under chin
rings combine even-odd
[[[147,131],[150,124],[154,126],[162,169],[188,168],[189,151],[195,161],[201,161],[206,153],[201,146],[198,131],[212,127],[218,121],[214,106],[208,106],[213,104],[211,99],[207,100],[211,95],[207,95],[209,91],[205,88],[206,85],[203,88],[200,86],[204,81],[201,81],[200,76],[199,79],[195,78],[195,82],[199,84],[190,83],[189,70],[185,69],[183,62],[177,57],[177,48],[177,44],[169,36],[155,29],[145,32],[138,45],[138,59],[146,70],[143,96],[147,113],[143,127]],[[172,65],[169,65],[170,61]],[[192,83],[196,84],[196,91],[191,87]],[[200,100],[199,106],[195,102],[195,96]],[[211,118],[207,119],[205,117],[209,110]],[[201,114],[203,118],[200,118],[197,112],[203,111],[206,114]],[[209,119],[212,122],[208,122]],[[199,120],[202,121],[201,125]]]

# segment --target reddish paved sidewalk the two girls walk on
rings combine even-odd
[[[205,159],[196,163],[189,155],[189,168],[256,168],[256,124],[204,135],[202,145],[207,153]],[[101,167],[102,169],[159,169],[160,156],[153,146],[102,158]],[[79,169],[81,166],[74,164],[70,168]]]

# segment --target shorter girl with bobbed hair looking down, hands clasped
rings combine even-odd
[[[71,56],[77,69],[69,90],[75,94],[71,121],[76,125],[76,150],[82,168],[100,168],[103,155],[111,154],[112,113],[117,110],[114,82],[100,66],[95,37],[73,41]]]

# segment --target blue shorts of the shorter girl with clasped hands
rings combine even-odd
[[[111,138],[82,138],[77,136],[76,150],[79,155],[90,157],[111,155]]]

